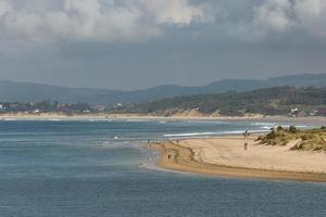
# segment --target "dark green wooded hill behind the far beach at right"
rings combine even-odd
[[[125,112],[171,115],[196,110],[202,114],[218,113],[226,116],[247,114],[287,115],[298,108],[308,115],[315,107],[326,106],[326,88],[277,87],[248,92],[226,92],[163,99],[146,104],[136,104]]]

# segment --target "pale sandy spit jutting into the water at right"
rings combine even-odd
[[[187,139],[151,144],[161,152],[158,166],[195,174],[233,178],[256,178],[326,182],[326,154],[290,151],[286,146],[258,144],[249,138],[228,136],[210,139]]]

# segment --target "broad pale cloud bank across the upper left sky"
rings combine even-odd
[[[140,40],[162,35],[162,25],[203,22],[205,14],[189,0],[62,0],[57,7],[11,2],[0,2],[0,33],[29,41]]]

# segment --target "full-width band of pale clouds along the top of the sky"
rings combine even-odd
[[[293,35],[325,40],[325,4],[326,0],[0,0],[0,40],[111,42],[193,36],[225,42],[287,40]]]

